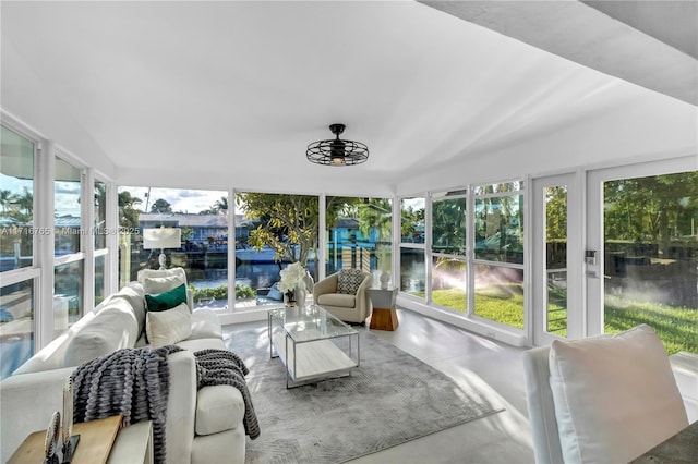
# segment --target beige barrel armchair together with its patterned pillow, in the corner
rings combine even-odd
[[[341,269],[313,286],[316,304],[345,322],[364,323],[371,316],[369,289],[373,276],[359,269]]]

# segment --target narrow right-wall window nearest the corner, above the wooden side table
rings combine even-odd
[[[426,292],[423,196],[400,199],[400,291],[421,298]]]

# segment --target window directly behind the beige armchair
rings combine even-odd
[[[326,274],[339,269],[362,269],[373,273],[378,284],[381,274],[393,268],[393,202],[385,198],[327,196]]]

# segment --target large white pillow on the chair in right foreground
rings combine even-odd
[[[625,463],[688,425],[666,351],[649,326],[554,341],[549,361],[565,462]]]

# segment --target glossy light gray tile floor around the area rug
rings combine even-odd
[[[481,381],[506,410],[353,461],[360,463],[533,463],[524,368],[517,349],[419,314],[398,309],[400,327],[373,331],[454,379]],[[251,326],[226,326],[234,332]]]

